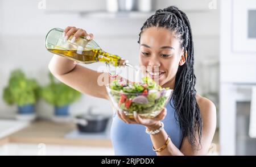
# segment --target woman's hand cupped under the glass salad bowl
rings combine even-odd
[[[163,120],[166,114],[167,114],[166,108],[162,108],[162,111],[160,112],[160,114],[158,114],[158,116],[156,116],[155,118],[143,118],[139,116],[136,111],[134,111],[133,112],[134,118],[130,119],[130,118],[127,118],[127,116],[125,115],[125,113],[123,113],[123,111],[121,110],[117,111],[118,117],[122,119],[123,122],[129,123],[129,124],[130,123],[142,124],[143,126],[146,126],[146,127],[155,127],[156,125],[159,125],[160,120]]]

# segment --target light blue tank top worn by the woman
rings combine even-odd
[[[174,106],[173,103],[172,106]],[[179,122],[175,119],[175,109],[172,106],[167,103],[167,115],[162,122],[164,123],[164,130],[171,137],[172,143],[180,148],[182,136]],[[155,156],[156,153],[152,150],[150,135],[145,132],[145,129],[141,124],[127,124],[119,119],[118,115],[114,114],[111,139],[115,155]]]

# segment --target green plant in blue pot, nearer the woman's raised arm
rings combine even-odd
[[[40,88],[40,97],[55,107],[55,116],[68,116],[69,105],[79,99],[81,93],[64,83],[56,82],[51,73],[49,79],[49,85]]]

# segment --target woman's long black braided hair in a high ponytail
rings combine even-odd
[[[187,136],[192,146],[195,146],[195,143],[201,144],[202,120],[196,102],[193,40],[187,15],[176,6],[157,10],[143,24],[138,43],[140,43],[143,30],[149,27],[163,27],[175,32],[177,39],[180,40],[181,48],[187,51],[186,61],[179,66],[176,73],[174,93],[172,94],[174,106],[172,107],[175,108],[175,118],[179,120],[182,136]],[[196,133],[199,135],[199,141],[196,139]]]

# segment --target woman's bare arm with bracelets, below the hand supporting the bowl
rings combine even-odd
[[[201,145],[198,148],[193,148],[189,143],[188,138],[184,137],[180,150],[170,141],[167,148],[162,152],[156,152],[157,155],[207,155],[212,143],[216,128],[216,107],[215,105],[206,98],[200,98],[197,103],[199,104],[202,122],[203,122],[203,133],[201,138]],[[155,126],[147,127],[148,130],[156,130],[160,127],[160,124]],[[150,135],[152,144],[155,149],[162,147],[168,138],[166,131],[160,131],[155,135]],[[171,137],[171,136],[170,136]],[[196,136],[197,141],[199,136]],[[195,143],[197,146],[198,143]]]

